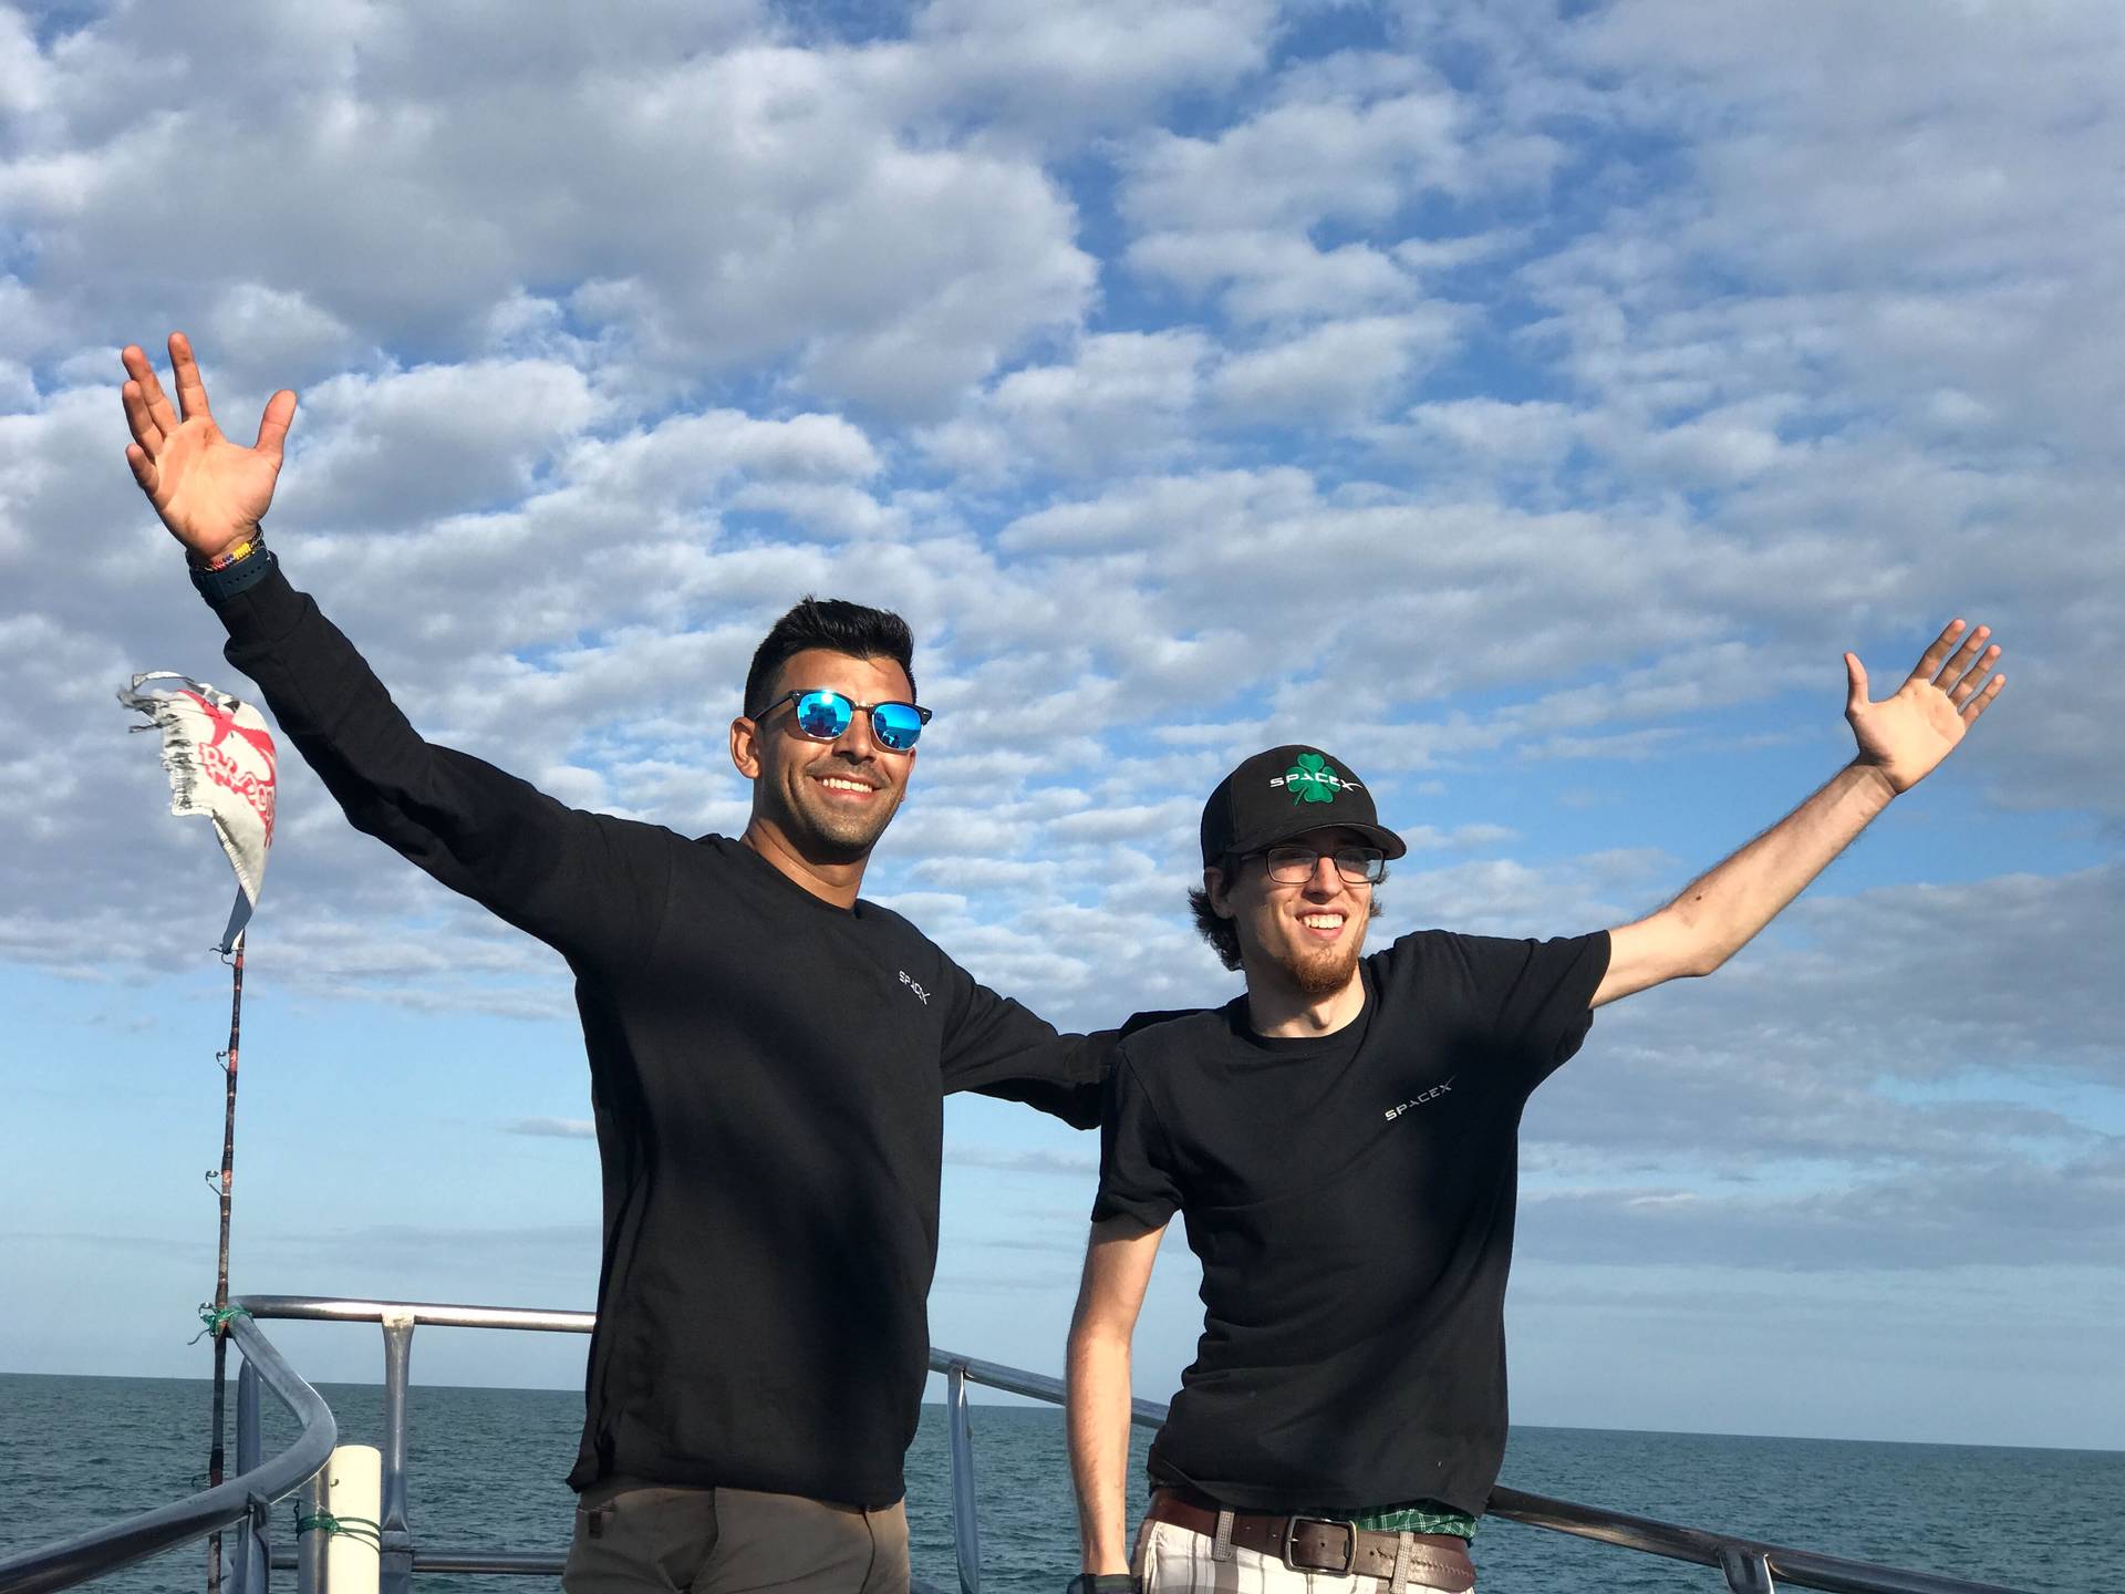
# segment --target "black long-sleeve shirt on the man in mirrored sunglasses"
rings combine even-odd
[[[1060,1037],[899,914],[742,842],[565,808],[423,742],[274,572],[219,604],[357,829],[576,976],[604,1260],[574,1488],[901,1498],[929,1352],[944,1095],[1099,1118],[1109,1037]]]

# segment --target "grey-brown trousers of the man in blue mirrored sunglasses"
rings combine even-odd
[[[903,1505],[599,1483],[576,1503],[567,1594],[907,1594]]]

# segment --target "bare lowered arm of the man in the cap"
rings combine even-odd
[[[1084,1571],[1128,1571],[1128,1341],[1164,1224],[1092,1224],[1069,1324],[1069,1471]]]

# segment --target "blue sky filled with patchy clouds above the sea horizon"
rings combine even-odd
[[[0,1369],[204,1367],[230,884],[113,701],[244,691],[121,461],[178,325],[232,431],[302,393],[293,580],[567,801],[735,831],[761,631],[905,612],[869,895],[1071,1027],[1232,990],[1182,893],[1260,746],[1411,837],[1381,935],[1575,933],[1838,767],[1842,648],[1887,691],[1989,621],[1964,752],[1534,1099],[1515,1415],[2125,1445],[2121,74],[2104,4],[0,6],[0,1275],[51,1307]],[[285,771],[238,1288],[589,1305],[559,959]],[[1060,1364],[1092,1163],[952,1103],[937,1343]]]

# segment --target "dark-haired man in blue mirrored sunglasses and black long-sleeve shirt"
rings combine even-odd
[[[729,750],[742,837],[586,814],[406,723],[289,587],[257,444],[125,349],[125,457],[280,731],[357,829],[557,948],[576,976],[604,1256],[563,1585],[907,1588],[901,1462],[929,1360],[941,1097],[1099,1116],[1111,1037],[1060,1037],[858,899],[931,712],[899,616],[805,599],[761,642]],[[385,1545],[387,1566],[406,1545]],[[397,1562],[406,1566],[406,1560]]]

